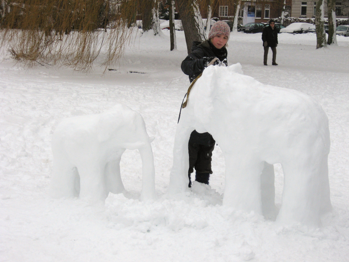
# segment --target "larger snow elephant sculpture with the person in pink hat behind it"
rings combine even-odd
[[[206,68],[177,125],[170,193],[187,190],[188,140],[194,129],[211,133],[222,149],[223,205],[262,213],[264,194],[266,205],[274,206],[274,198],[268,198],[273,194],[265,187],[268,180],[274,183],[268,178],[274,175],[270,165],[281,163],[284,189],[277,221],[319,226],[320,215],[332,209],[328,119],[311,97],[263,85],[243,75],[240,64]],[[267,183],[261,187],[262,170]]]

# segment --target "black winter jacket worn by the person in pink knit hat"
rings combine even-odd
[[[189,80],[192,82],[205,69],[205,58],[217,57],[225,66],[228,66],[227,55],[228,52],[225,47],[217,49],[208,40],[202,43],[195,41],[193,42],[192,52],[183,60],[180,67],[183,73],[189,75]]]

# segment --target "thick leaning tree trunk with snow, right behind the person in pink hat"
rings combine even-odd
[[[196,0],[177,0],[177,3],[184,29],[185,42],[187,43],[187,51],[190,54],[193,41],[202,42],[206,39],[199,5]]]

